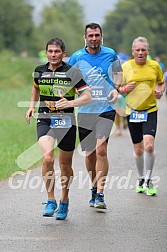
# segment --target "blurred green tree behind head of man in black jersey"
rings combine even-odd
[[[38,27],[40,49],[45,49],[47,40],[60,37],[66,44],[67,55],[81,47],[83,42],[83,7],[77,0],[53,0],[43,9]]]

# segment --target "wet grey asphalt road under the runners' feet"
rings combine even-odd
[[[89,181],[84,157],[76,150],[75,179],[65,221],[43,218],[46,193],[41,169],[0,183],[0,251],[166,252],[167,251],[167,102],[159,102],[153,177],[158,196],[135,193],[137,172],[128,130],[109,141],[107,210],[88,207]],[[57,160],[55,170],[58,172]],[[60,197],[56,183],[55,194]]]

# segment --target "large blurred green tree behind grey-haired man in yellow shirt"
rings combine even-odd
[[[114,11],[105,17],[103,26],[106,45],[131,55],[134,38],[149,40],[152,57],[167,55],[167,1],[119,0]]]

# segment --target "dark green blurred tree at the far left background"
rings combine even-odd
[[[26,0],[1,0],[0,4],[0,50],[29,51],[34,47],[32,6]]]

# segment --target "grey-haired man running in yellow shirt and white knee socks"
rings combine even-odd
[[[157,130],[157,101],[163,95],[165,84],[162,70],[154,60],[148,60],[149,43],[138,37],[132,43],[134,59],[125,62],[123,85],[119,92],[126,94],[126,114],[138,170],[136,192],[156,195],[151,175],[155,155],[154,140]]]

